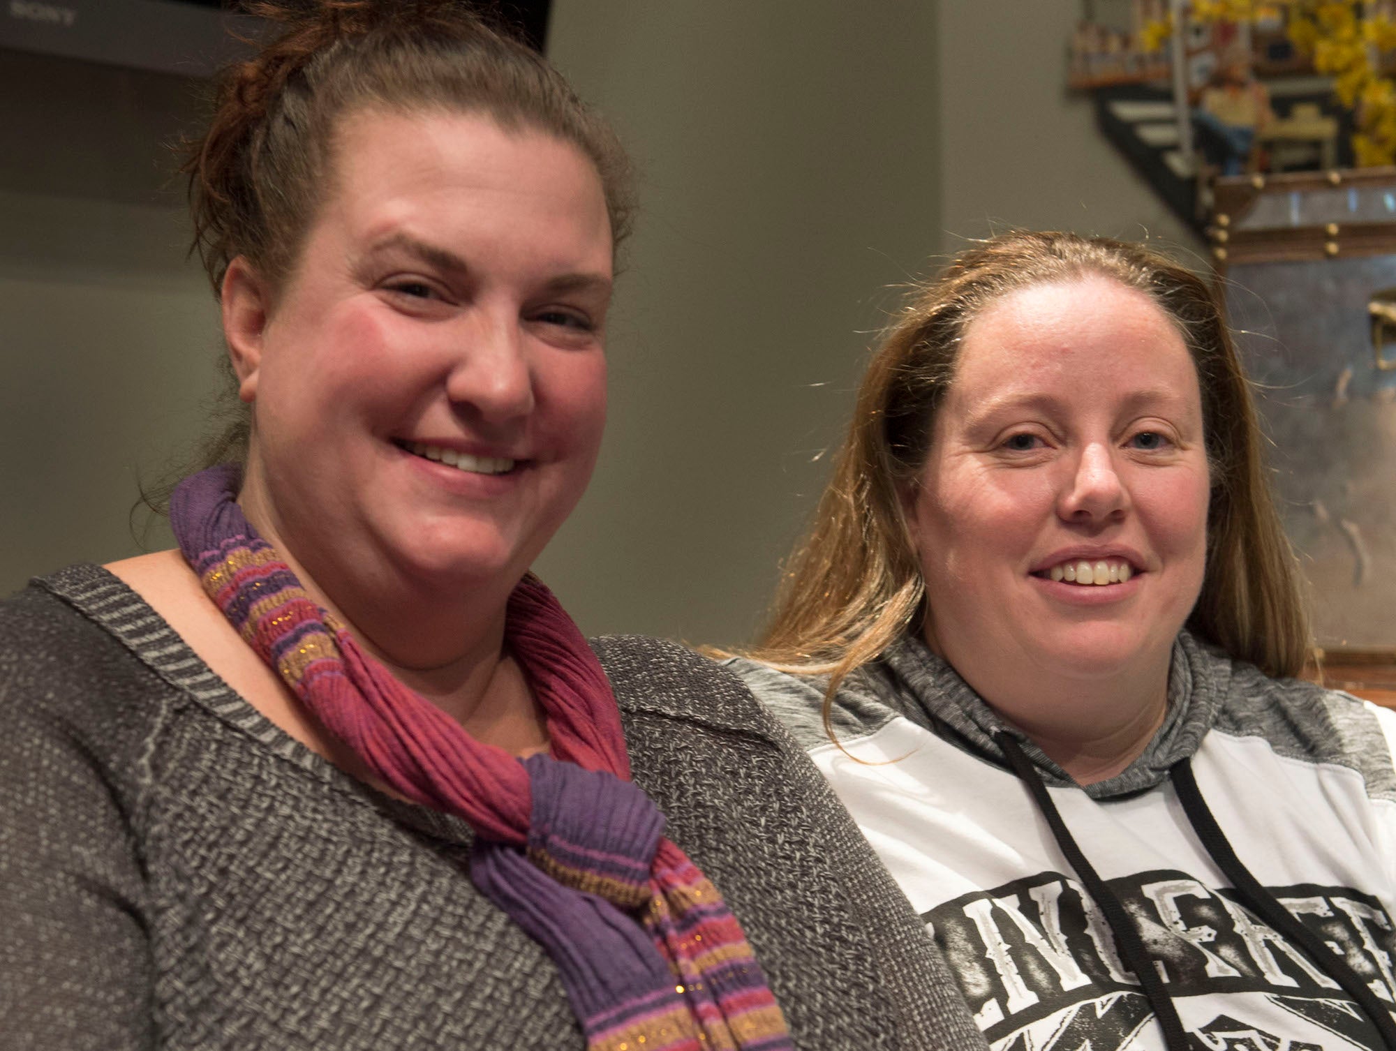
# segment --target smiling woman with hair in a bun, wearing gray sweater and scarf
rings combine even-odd
[[[0,1043],[981,1045],[740,681],[528,572],[600,444],[611,133],[459,3],[251,10],[188,163],[242,412],[179,550],[0,603]]]

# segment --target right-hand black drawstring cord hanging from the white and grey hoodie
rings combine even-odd
[[[1178,801],[1182,803],[1182,812],[1192,822],[1192,830],[1202,840],[1202,846],[1206,847],[1212,860],[1217,863],[1217,868],[1231,881],[1241,902],[1284,938],[1298,945],[1319,970],[1342,985],[1347,995],[1356,999],[1372,1019],[1372,1024],[1381,1033],[1382,1043],[1390,1051],[1396,1051],[1396,1022],[1392,1020],[1392,1008],[1382,1004],[1367,983],[1347,964],[1347,960],[1333,953],[1318,935],[1301,924],[1289,909],[1276,900],[1275,895],[1251,875],[1251,870],[1241,864],[1241,858],[1235,856],[1222,832],[1222,826],[1212,817],[1206,800],[1202,798],[1198,780],[1192,776],[1192,763],[1184,759],[1173,766],[1170,775],[1173,776],[1173,787],[1178,793]]]

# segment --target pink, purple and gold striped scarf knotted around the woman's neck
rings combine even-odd
[[[792,1048],[736,917],[631,783],[610,684],[553,593],[529,575],[508,602],[505,642],[551,741],[519,761],[364,653],[257,536],[237,484],[237,469],[212,468],[170,501],[204,590],[385,784],[470,823],[472,879],[551,956],[588,1048]]]

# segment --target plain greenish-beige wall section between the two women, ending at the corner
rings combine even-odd
[[[556,0],[644,215],[602,463],[540,571],[591,631],[736,642],[824,480],[885,286],[935,247],[921,0]]]

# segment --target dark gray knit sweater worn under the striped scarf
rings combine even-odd
[[[718,885],[803,1048],[983,1048],[923,925],[732,676],[602,639],[635,780]],[[0,603],[0,1047],[581,1048],[470,830],[233,694],[80,565]]]

